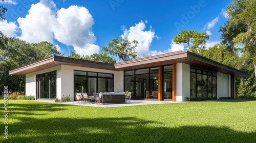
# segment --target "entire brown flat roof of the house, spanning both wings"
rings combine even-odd
[[[135,60],[129,60],[124,62],[119,62],[116,64],[81,60],[75,58],[52,56],[29,65],[25,65],[14,70],[9,71],[10,75],[25,76],[26,74],[33,73],[38,70],[45,68],[54,67],[57,65],[72,65],[81,67],[91,67],[97,69],[108,69],[108,70],[133,70],[154,67],[159,65],[170,65],[173,63],[186,63],[191,66],[220,72],[224,74],[230,74],[236,77],[250,77],[250,74],[244,71],[232,68],[230,66],[218,63],[216,61],[207,59],[205,57],[199,56],[197,54],[188,51],[177,51],[171,52],[146,58],[140,58]]]

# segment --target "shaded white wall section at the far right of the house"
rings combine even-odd
[[[230,97],[231,76],[217,73],[217,98]]]

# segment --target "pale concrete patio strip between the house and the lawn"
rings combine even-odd
[[[91,107],[124,107],[124,106],[136,106],[136,105],[150,105],[150,104],[171,104],[171,103],[186,103],[186,102],[173,102],[173,101],[157,101],[157,100],[131,100],[131,102],[120,103],[120,104],[95,104],[95,103],[78,103],[75,101],[71,102],[55,102],[54,100],[39,99],[36,102],[49,102],[66,105],[78,105],[78,106],[91,106]]]

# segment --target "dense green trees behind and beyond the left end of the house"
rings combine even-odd
[[[61,55],[49,42],[31,44],[17,38],[8,38],[8,45],[0,49],[0,79],[7,82],[9,90],[24,91],[25,77],[9,75],[9,70],[31,64],[35,61]],[[0,91],[6,84],[0,82]]]

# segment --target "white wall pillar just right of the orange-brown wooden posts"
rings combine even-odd
[[[176,101],[185,101],[190,97],[190,66],[185,63],[177,63]]]

